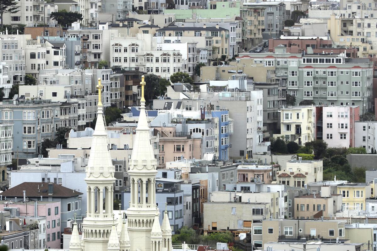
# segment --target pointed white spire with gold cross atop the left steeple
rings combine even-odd
[[[94,175],[96,177],[98,177],[98,173],[100,172],[103,172],[104,176],[110,177],[109,172],[113,172],[113,164],[109,149],[110,140],[104,122],[103,105],[102,102],[100,102],[100,81],[98,86],[99,101],[97,106],[97,122],[93,132],[92,146],[90,148],[87,169],[89,173],[96,173],[97,175]],[[113,179],[115,180],[115,178]]]

